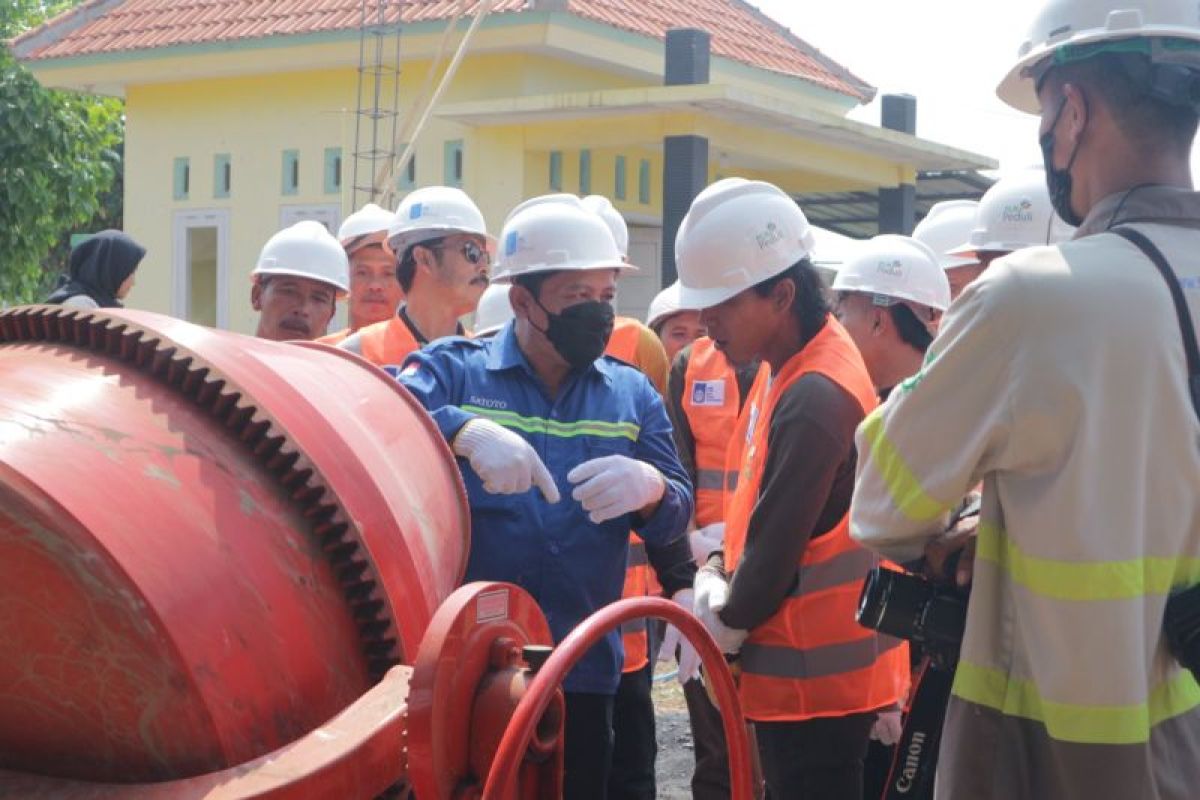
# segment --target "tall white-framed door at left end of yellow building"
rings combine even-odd
[[[172,240],[172,313],[228,327],[229,210],[176,211]]]

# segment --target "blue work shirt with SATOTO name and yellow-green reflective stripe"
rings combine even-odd
[[[602,356],[568,377],[551,397],[517,345],[514,324],[488,339],[446,338],[414,353],[400,381],[427,408],[446,441],[486,417],[520,434],[545,462],[562,494],[546,503],[536,488],[490,494],[460,459],[472,512],[464,581],[506,581],[541,606],[559,642],[596,609],[620,599],[629,531],[648,543],[680,536],[691,517],[691,483],[679,464],[662,399],[640,372]],[[626,515],[594,524],[571,498],[568,473],[583,462],[622,455],[666,479],[648,519]],[[620,678],[618,631],[568,675],[569,692],[612,694]]]

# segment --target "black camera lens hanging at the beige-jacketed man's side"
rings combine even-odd
[[[917,575],[877,566],[863,582],[856,619],[880,633],[920,645],[948,667],[958,662],[967,622],[967,595]],[[1200,636],[1193,646],[1200,648]]]

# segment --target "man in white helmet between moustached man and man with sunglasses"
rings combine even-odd
[[[396,278],[396,264],[388,249],[388,225],[395,215],[374,203],[346,217],[337,229],[346,257],[350,259],[350,296],[347,302],[350,326],[323,336],[318,342],[341,344],[360,327],[396,315],[404,293]]]

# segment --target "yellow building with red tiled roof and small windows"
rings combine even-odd
[[[13,50],[48,86],[125,98],[125,227],[149,251],[130,303],[250,332],[248,275],[263,242],[300,218],[336,230],[367,199],[355,186],[372,182],[380,152],[403,150],[391,121],[403,128],[422,110],[460,5],[98,0]],[[644,313],[672,277],[673,230],[712,179],[877,193],[899,219],[890,227],[904,228],[920,212],[919,175],[995,167],[845,119],[874,89],[738,0],[490,5],[389,199],[457,185],[498,233],[523,198],[606,194],[631,223],[631,259],[643,267],[622,283],[625,313]],[[383,24],[365,31],[377,14]],[[667,37],[680,28],[710,40]],[[682,85],[665,85],[665,38],[674,42],[666,83]]]

